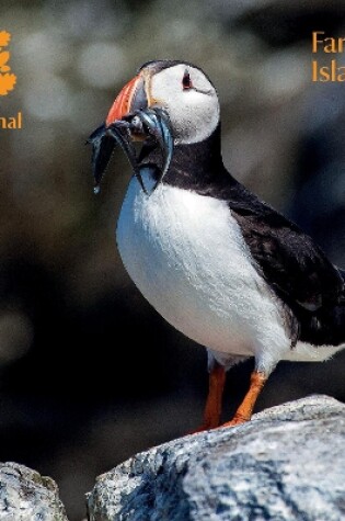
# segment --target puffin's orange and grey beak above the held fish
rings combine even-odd
[[[139,73],[133,80],[128,81],[116,97],[105,120],[105,126],[108,127],[117,120],[122,120],[136,110],[143,110],[148,106],[148,99],[145,91],[145,81]]]

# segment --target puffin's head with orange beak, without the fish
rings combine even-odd
[[[166,112],[175,144],[202,141],[219,122],[215,87],[198,67],[183,61],[142,65],[116,98],[106,125],[147,107],[161,107]]]

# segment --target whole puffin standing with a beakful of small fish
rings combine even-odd
[[[345,348],[345,272],[226,169],[218,94],[199,67],[142,65],[89,143],[95,192],[116,146],[133,170],[116,227],[125,269],[169,324],[207,350],[195,432],[249,421],[280,360],[324,361]],[[226,373],[251,356],[248,393],[221,423]]]

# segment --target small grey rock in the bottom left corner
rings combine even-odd
[[[68,521],[50,477],[18,463],[0,463],[1,521]]]

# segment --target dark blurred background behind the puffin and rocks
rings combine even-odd
[[[345,84],[311,81],[311,32],[345,36],[345,3],[1,0],[1,30],[18,84],[0,115],[22,111],[23,129],[0,129],[0,458],[54,477],[80,521],[95,476],[196,427],[207,393],[205,350],[116,251],[127,162],[114,155],[94,196],[87,137],[143,61],[195,63],[219,92],[232,174],[345,267]],[[344,400],[344,367],[280,363],[257,409]],[[225,420],[251,369],[229,373]]]

